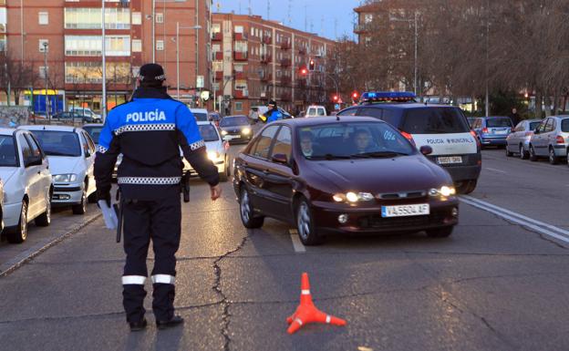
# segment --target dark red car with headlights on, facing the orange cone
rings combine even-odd
[[[449,173],[423,155],[431,151],[373,118],[271,123],[235,159],[243,225],[289,222],[306,245],[326,232],[449,236],[459,202]]]

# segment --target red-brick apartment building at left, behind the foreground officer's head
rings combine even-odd
[[[147,62],[164,66],[173,97],[195,104],[202,90],[210,90],[211,5],[105,0],[107,108],[129,99]],[[102,43],[100,0],[0,0],[0,50],[32,65],[35,76],[25,95],[36,110],[42,110],[46,86],[54,109],[102,108]]]

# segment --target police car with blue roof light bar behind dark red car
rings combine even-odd
[[[471,193],[481,173],[481,145],[457,107],[418,103],[409,92],[367,92],[357,106],[337,113],[383,119],[415,144],[428,145],[429,160],[448,170],[460,193]]]

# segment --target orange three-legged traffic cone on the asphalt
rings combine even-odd
[[[328,325],[346,325],[346,321],[337,318],[333,315],[326,315],[324,312],[318,310],[312,302],[312,295],[310,294],[310,282],[308,281],[308,274],[303,273],[300,282],[300,305],[296,307],[294,315],[286,318],[288,327],[288,334],[295,333],[301,326],[308,323],[326,323]]]

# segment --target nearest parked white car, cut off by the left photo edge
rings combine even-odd
[[[23,243],[27,223],[51,222],[53,186],[48,160],[26,130],[0,129],[0,178],[4,182],[2,215],[9,243]]]

